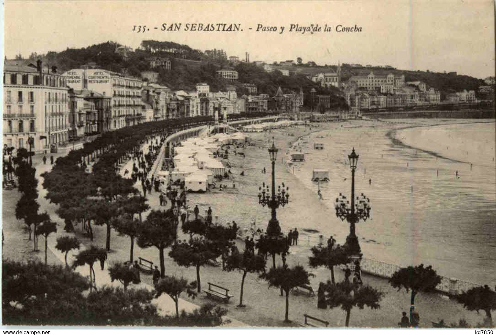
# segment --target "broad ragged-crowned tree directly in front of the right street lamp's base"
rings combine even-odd
[[[369,285],[357,285],[347,280],[340,283],[327,281],[324,292],[326,294],[325,302],[330,308],[341,306],[341,309],[346,312],[346,327],[350,325],[350,314],[353,307],[364,309],[367,306],[378,309],[380,308],[379,302],[384,295]]]

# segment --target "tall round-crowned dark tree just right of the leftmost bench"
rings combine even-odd
[[[178,221],[172,209],[152,210],[138,229],[138,246],[155,247],[159,251],[160,276],[165,275],[164,249],[170,247],[178,236]]]

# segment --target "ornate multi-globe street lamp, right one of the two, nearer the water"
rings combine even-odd
[[[353,148],[351,154],[348,155],[351,168],[351,204],[346,196],[339,193],[339,196],[334,202],[334,207],[336,209],[336,216],[342,221],[346,219],[350,224],[350,234],[346,237],[346,247],[351,254],[360,258],[362,253],[358,237],[355,234],[355,225],[360,220],[366,221],[370,218],[371,204],[370,199],[366,197],[364,193],[355,198],[355,170],[357,169],[358,157],[359,155],[355,153],[355,148]]]

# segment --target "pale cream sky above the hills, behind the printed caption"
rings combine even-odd
[[[301,57],[319,65],[391,65],[485,78],[495,75],[494,17],[493,0],[6,0],[4,53],[12,59],[109,40],[137,48],[153,39],[242,58],[248,52],[250,61]],[[182,29],[161,31],[163,23],[182,23]],[[186,23],[236,23],[243,31],[185,31]],[[258,24],[278,31],[256,31]],[[291,24],[318,24],[322,31],[290,32]],[[330,32],[323,32],[325,24]],[[355,24],[361,32],[336,31]],[[135,25],[151,29],[133,32]]]

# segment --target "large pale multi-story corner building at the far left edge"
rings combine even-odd
[[[15,149],[43,152],[69,139],[66,80],[57,68],[6,63],[3,70],[3,143]]]

